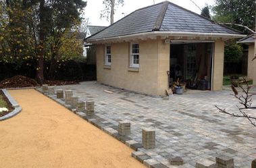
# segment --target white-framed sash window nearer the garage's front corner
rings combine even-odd
[[[138,43],[130,44],[130,67],[139,67],[140,64],[140,45]]]

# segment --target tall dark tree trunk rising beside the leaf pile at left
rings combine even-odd
[[[43,28],[43,10],[45,7],[45,0],[40,1],[39,6],[39,47],[38,47],[38,61],[37,61],[37,73],[36,80],[39,84],[43,84],[44,76],[43,76],[43,63],[44,63],[44,55],[45,55],[45,30]]]

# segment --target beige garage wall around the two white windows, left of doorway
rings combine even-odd
[[[170,69],[170,45],[165,45],[163,40],[137,43],[140,45],[138,69],[131,69],[129,65],[130,43],[111,44],[111,67],[104,65],[104,45],[97,45],[97,81],[135,92],[165,95],[168,88],[166,72]]]

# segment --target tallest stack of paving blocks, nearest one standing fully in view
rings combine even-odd
[[[143,148],[155,148],[155,130],[143,128]]]

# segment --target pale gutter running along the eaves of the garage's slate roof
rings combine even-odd
[[[124,36],[114,36],[108,38],[99,38],[95,40],[85,40],[87,43],[97,43],[106,40],[125,40],[127,38],[137,37],[149,37],[149,36],[205,36],[205,37],[217,37],[217,38],[243,38],[244,34],[227,34],[227,33],[203,33],[203,32],[143,32],[138,34],[130,34]]]

